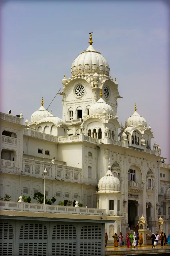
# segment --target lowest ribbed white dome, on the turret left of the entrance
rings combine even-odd
[[[103,176],[98,183],[99,192],[120,192],[120,181],[110,170]]]

